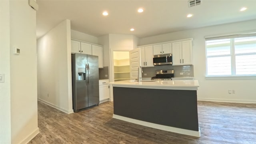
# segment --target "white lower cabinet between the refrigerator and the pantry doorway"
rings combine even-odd
[[[100,103],[109,100],[109,80],[99,80]]]

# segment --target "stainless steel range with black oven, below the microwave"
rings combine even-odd
[[[156,70],[156,76],[151,80],[172,80],[172,77],[174,77],[174,70]]]

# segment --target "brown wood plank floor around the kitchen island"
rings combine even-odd
[[[198,101],[201,137],[112,118],[113,102],[65,114],[38,102],[40,133],[29,144],[256,144],[256,104]]]

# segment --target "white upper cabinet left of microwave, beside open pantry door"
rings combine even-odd
[[[152,67],[153,65],[153,46],[140,48],[140,66]]]

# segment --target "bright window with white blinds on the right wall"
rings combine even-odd
[[[256,34],[206,38],[207,76],[256,76]]]

